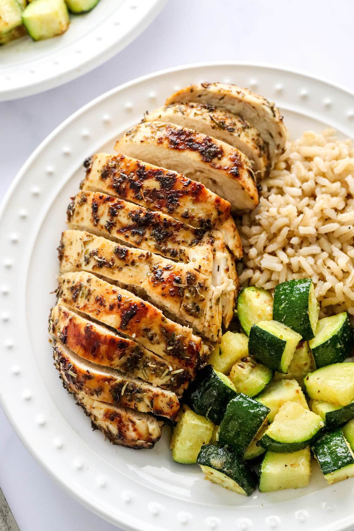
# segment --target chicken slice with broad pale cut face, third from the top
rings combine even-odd
[[[203,183],[231,203],[231,210],[254,209],[258,192],[249,159],[229,144],[192,129],[143,122],[115,144],[124,155],[158,164]]]

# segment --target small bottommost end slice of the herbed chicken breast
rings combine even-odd
[[[67,382],[64,382],[64,387],[90,417],[92,429],[100,430],[112,444],[139,450],[153,448],[160,439],[161,422],[149,413],[99,402],[80,391],[75,391]]]

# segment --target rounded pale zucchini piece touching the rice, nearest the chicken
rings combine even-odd
[[[237,315],[247,336],[253,324],[273,319],[273,297],[266,289],[244,288],[237,299]]]

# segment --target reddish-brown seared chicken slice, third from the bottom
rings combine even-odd
[[[51,309],[49,333],[89,362],[112,367],[181,396],[191,379],[178,364],[171,364],[132,339],[118,336],[100,324],[66,308],[59,299]],[[173,373],[173,374],[172,374]]]

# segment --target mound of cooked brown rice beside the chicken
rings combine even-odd
[[[241,286],[311,277],[322,315],[354,315],[354,149],[335,131],[288,142],[260,204],[238,220]]]

